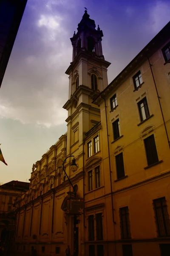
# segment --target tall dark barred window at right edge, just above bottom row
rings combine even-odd
[[[153,200],[158,236],[170,236],[170,218],[165,197]]]

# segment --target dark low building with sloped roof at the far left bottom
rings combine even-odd
[[[4,243],[6,247],[13,247],[16,229],[16,212],[14,212],[13,205],[28,189],[28,182],[17,180],[12,180],[0,186],[0,245]]]

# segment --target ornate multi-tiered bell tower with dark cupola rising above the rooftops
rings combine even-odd
[[[103,32],[85,10],[78,24],[77,33],[71,39],[72,62],[66,74],[69,76],[68,101],[63,108],[68,111],[67,156],[82,152],[82,144],[87,133],[100,121],[100,109],[93,99],[108,86],[107,68],[102,52]],[[77,149],[78,148],[78,149]]]

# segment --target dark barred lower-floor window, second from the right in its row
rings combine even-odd
[[[120,228],[122,239],[131,238],[130,236],[130,222],[129,222],[129,209],[128,207],[122,207],[120,211]]]

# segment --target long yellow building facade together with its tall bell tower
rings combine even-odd
[[[32,168],[17,253],[169,255],[169,32],[170,23],[108,85],[102,30],[85,11],[66,70],[68,130]],[[69,196],[82,199],[79,214],[65,208]]]

